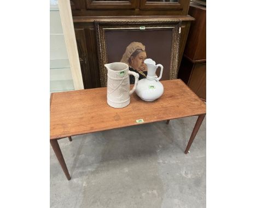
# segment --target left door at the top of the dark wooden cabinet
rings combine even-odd
[[[139,8],[138,0],[85,0],[87,9],[136,9]]]

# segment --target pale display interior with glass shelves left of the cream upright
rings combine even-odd
[[[50,92],[74,90],[57,1],[50,0]]]

